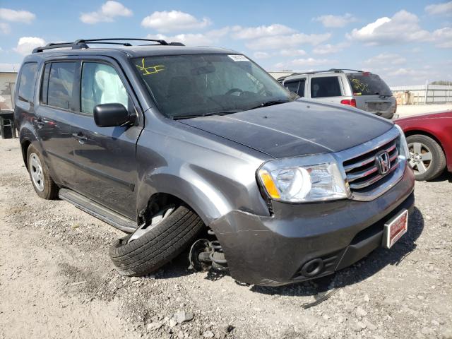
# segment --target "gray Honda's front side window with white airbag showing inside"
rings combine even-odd
[[[84,62],[81,78],[81,112],[93,114],[101,104],[122,104],[129,108],[126,88],[112,66]]]

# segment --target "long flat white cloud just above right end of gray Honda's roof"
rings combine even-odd
[[[270,37],[260,37],[246,44],[249,49],[283,49],[287,47],[297,47],[300,44],[312,44],[316,46],[325,42],[331,37],[330,33],[324,34],[304,34],[295,33],[292,35],[274,35]]]

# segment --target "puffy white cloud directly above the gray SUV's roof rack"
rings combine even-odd
[[[191,14],[181,11],[154,12],[141,21],[143,27],[153,28],[157,32],[196,30],[206,28],[210,24],[208,18],[198,20]]]

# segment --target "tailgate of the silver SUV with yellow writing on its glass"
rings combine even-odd
[[[378,115],[396,112],[396,98],[379,76],[367,72],[351,73],[347,79],[357,108]]]

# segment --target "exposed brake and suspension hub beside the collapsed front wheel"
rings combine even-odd
[[[208,230],[208,234],[215,236],[213,230]],[[198,272],[206,272],[210,269],[226,271],[228,270],[225,254],[218,240],[198,239],[191,245],[189,253],[190,269]]]

